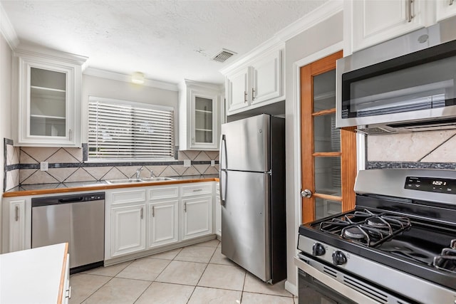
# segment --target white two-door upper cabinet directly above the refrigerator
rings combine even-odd
[[[222,70],[226,77],[227,115],[285,99],[284,46],[274,46],[248,61]]]

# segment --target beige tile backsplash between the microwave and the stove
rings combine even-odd
[[[456,169],[455,151],[455,130],[369,135],[366,167]]]

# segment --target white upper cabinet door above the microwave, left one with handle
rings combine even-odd
[[[359,51],[390,38],[427,26],[425,0],[346,0],[344,19],[351,22],[351,51]],[[351,16],[351,19],[350,17]],[[345,37],[349,39],[350,36]],[[345,56],[349,55],[347,51]]]

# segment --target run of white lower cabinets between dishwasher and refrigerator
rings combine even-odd
[[[105,260],[212,234],[214,182],[106,190]]]

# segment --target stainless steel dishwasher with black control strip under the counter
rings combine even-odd
[[[71,273],[103,266],[105,193],[31,200],[31,247],[68,242]]]

